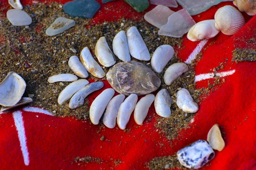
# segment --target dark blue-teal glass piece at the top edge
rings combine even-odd
[[[96,0],[74,0],[64,4],[63,9],[70,17],[92,18],[99,10]]]

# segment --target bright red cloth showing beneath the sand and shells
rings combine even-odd
[[[7,0],[4,0],[3,4],[5,5],[6,2]],[[61,1],[61,3],[65,2]],[[32,1],[21,0],[21,3],[26,5],[31,4]],[[213,19],[218,8],[231,4],[232,2],[220,3],[193,18],[196,22]],[[138,20],[143,17],[143,13],[137,13],[121,0],[101,3],[101,6],[92,25],[122,17]],[[152,8],[153,5],[147,11]],[[124,11],[116,13],[120,9]],[[177,11],[181,7],[171,9]],[[212,69],[227,58],[224,70],[219,71],[235,70],[235,73],[224,77],[225,83],[201,102],[200,110],[191,123],[192,128],[181,130],[174,141],[166,139],[164,134],[159,134],[159,130],[154,127],[159,118],[154,111],[154,105],[151,105],[148,113],[148,116],[152,117],[151,121],[147,121],[146,118],[142,126],[136,125],[134,115],[131,115],[127,125],[127,129],[131,129],[130,132],[120,130],[117,125],[109,129],[92,125],[90,120],[77,121],[72,117],[61,118],[20,110],[23,116],[29,164],[24,164],[13,114],[10,112],[0,114],[0,169],[108,170],[111,167],[116,170],[147,169],[146,163],[154,157],[169,156],[198,139],[206,140],[209,129],[217,123],[225,133],[226,147],[221,152],[215,151],[215,158],[210,162],[210,166],[204,169],[256,170],[256,62],[231,61],[232,51],[235,48],[256,49],[256,44],[249,42],[251,38],[256,38],[256,17],[249,17],[244,13],[243,15],[247,21],[246,25],[233,36],[220,33],[210,39],[204,46],[203,57],[195,68],[196,75],[212,73]],[[185,48],[181,50],[175,48],[178,50],[178,57],[185,61],[198,43],[191,42],[184,36]],[[197,88],[207,87],[208,80],[213,81],[213,79],[202,80],[197,83]],[[90,104],[104,89],[111,87],[106,81],[104,84],[103,89],[89,96]],[[104,141],[100,140],[102,135],[105,136]],[[95,162],[79,164],[74,162],[76,156],[91,156],[104,161],[101,164]],[[118,159],[122,163],[115,166],[114,160]]]

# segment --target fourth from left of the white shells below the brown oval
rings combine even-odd
[[[141,98],[134,109],[134,120],[138,125],[142,125],[148,115],[148,110],[154,102],[154,94],[147,94]]]

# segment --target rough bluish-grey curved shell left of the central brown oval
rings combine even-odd
[[[101,89],[104,86],[103,82],[93,82],[81,88],[79,91],[72,96],[70,99],[68,107],[70,109],[76,109],[84,105],[84,99],[94,91]]]

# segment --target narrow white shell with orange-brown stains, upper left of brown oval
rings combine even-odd
[[[99,66],[99,64],[93,59],[92,54],[90,53],[89,48],[85,47],[80,54],[80,61],[86,68],[86,70],[92,74],[94,77],[103,78],[105,72]]]

